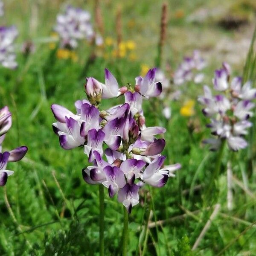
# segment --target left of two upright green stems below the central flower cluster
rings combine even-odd
[[[104,186],[99,185],[99,255],[104,256]]]

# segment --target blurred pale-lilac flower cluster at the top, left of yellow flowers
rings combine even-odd
[[[64,14],[57,16],[55,31],[61,38],[61,47],[73,49],[78,46],[78,40],[86,39],[96,44],[102,44],[102,38],[95,35],[89,12],[73,6],[68,6]]]

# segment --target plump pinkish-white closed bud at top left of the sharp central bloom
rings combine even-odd
[[[87,79],[85,92],[92,105],[99,104],[102,101],[102,84],[93,77]]]

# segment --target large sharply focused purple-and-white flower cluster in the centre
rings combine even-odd
[[[82,146],[91,166],[83,169],[84,180],[90,184],[103,184],[110,197],[117,199],[128,212],[139,203],[142,183],[162,187],[180,164],[163,166],[165,156],[160,153],[165,140],[162,127],[146,127],[143,98],[159,96],[160,82],[155,81],[157,69],[149,70],[145,77],[136,77],[135,85],[119,88],[115,77],[105,70],[105,84],[93,77],[87,79],[85,91],[88,100],[75,102],[76,114],[53,104],[57,122],[53,130],[64,149]],[[102,99],[124,95],[125,103],[99,111]],[[105,150],[103,149],[105,148]]]

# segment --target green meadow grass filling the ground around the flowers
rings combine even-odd
[[[7,2],[7,1],[6,1]],[[193,2],[193,3],[192,3]],[[169,1],[169,16],[182,9],[191,13],[205,1]],[[208,1],[207,1],[208,2]],[[220,3],[221,1],[216,1]],[[81,148],[64,151],[58,137],[52,132],[54,118],[52,103],[74,110],[73,102],[85,99],[84,79],[81,79],[84,63],[90,56],[91,46],[82,44],[77,50],[78,62],[58,59],[49,44],[40,43],[50,35],[55,15],[62,1],[19,1],[6,3],[5,24],[16,24],[20,31],[18,46],[25,39],[35,41],[36,51],[28,57],[18,54],[17,70],[0,68],[1,106],[8,105],[13,113],[13,126],[6,136],[4,147],[27,145],[26,157],[9,168],[15,175],[9,178],[0,192],[0,255],[97,255],[99,252],[99,194],[98,186],[89,186],[82,178],[81,170],[88,165]],[[122,8],[123,38],[137,44],[137,59],[108,58],[99,56],[82,75],[104,81],[104,68],[116,76],[119,84],[133,83],[140,75],[141,64],[154,67],[157,57],[161,1],[102,1],[105,33],[115,35],[116,8]],[[35,5],[35,6],[34,6]],[[93,12],[93,1],[76,1],[77,6]],[[38,26],[31,29],[34,8],[38,10]],[[171,16],[172,17],[172,16]],[[43,24],[42,24],[43,22]],[[132,25],[135,24],[135,25]],[[219,37],[231,32],[213,25],[193,25],[185,19],[169,18],[168,35],[163,49],[162,65],[169,61],[172,69],[186,52],[197,47],[181,43],[177,30],[186,33],[204,33],[207,30]],[[229,35],[230,34],[230,35]],[[254,37],[255,38],[255,37]],[[217,44],[218,42],[212,42]],[[178,46],[175,46],[178,44]],[[180,49],[184,48],[183,51]],[[253,48],[251,48],[253,49]],[[246,78],[255,82],[255,52],[251,50],[244,66]],[[245,58],[245,56],[244,56]],[[223,60],[225,61],[225,60]],[[206,69],[210,83],[216,61]],[[165,65],[163,65],[164,67]],[[254,76],[254,77],[253,77]],[[187,94],[185,92],[188,92]],[[166,164],[181,163],[182,169],[169,179],[162,189],[145,186],[140,198],[143,203],[133,208],[129,216],[129,255],[256,255],[255,202],[256,202],[256,136],[251,129],[248,149],[233,154],[233,209],[227,209],[226,166],[230,152],[224,149],[220,160],[220,172],[213,182],[212,173],[217,153],[210,152],[202,140],[209,136],[205,128],[207,120],[196,103],[192,117],[180,115],[186,99],[197,99],[201,86],[185,88],[182,99],[169,102],[172,117],[161,115],[162,105],[154,99],[144,102],[147,126],[166,127],[164,134]],[[119,103],[120,99],[103,101],[104,107]],[[254,124],[256,120],[254,119]],[[255,125],[254,125],[255,127]],[[106,193],[106,190],[105,190]],[[105,255],[121,254],[122,204],[105,197]],[[209,230],[191,250],[212,212],[218,208]]]

